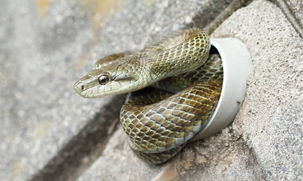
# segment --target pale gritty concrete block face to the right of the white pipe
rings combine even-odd
[[[252,58],[247,96],[232,128],[266,179],[302,180],[302,39],[265,1],[239,10],[212,34],[230,36],[242,40]]]

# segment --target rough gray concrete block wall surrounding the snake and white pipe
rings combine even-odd
[[[302,39],[271,2],[253,1],[212,34],[238,38],[251,53],[235,121],[165,164],[135,157],[121,127],[106,133],[125,95],[84,99],[72,92],[98,58],[202,28],[226,4],[0,1],[0,179],[302,180]],[[289,4],[301,18],[302,2]]]

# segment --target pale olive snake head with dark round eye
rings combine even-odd
[[[111,64],[88,72],[74,84],[74,91],[85,98],[122,94],[138,79],[130,66]]]

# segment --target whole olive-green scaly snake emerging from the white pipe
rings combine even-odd
[[[74,84],[75,93],[98,98],[156,87],[128,100],[120,122],[138,157],[149,164],[171,159],[207,125],[218,105],[224,74],[220,55],[210,55],[208,34],[244,2],[234,0],[205,30],[178,30],[142,50],[98,60]]]

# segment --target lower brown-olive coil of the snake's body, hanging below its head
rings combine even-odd
[[[205,81],[174,95],[155,91],[129,100],[120,120],[133,150],[153,164],[174,156],[208,123],[221,87],[222,81]]]

